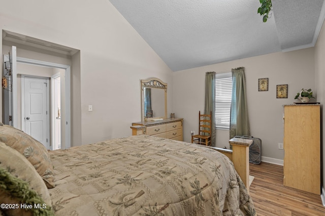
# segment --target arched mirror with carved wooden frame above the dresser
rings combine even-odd
[[[142,121],[167,118],[167,83],[158,78],[141,80]]]

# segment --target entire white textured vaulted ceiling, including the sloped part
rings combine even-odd
[[[109,0],[173,70],[313,47],[324,0]]]

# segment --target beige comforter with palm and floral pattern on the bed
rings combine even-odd
[[[132,136],[50,151],[56,215],[256,215],[223,154]]]

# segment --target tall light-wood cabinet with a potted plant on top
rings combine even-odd
[[[320,194],[320,106],[284,106],[283,184]]]

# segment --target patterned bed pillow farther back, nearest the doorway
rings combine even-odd
[[[0,126],[0,142],[16,149],[35,167],[47,188],[54,188],[53,165],[45,146],[29,135],[9,126]]]

